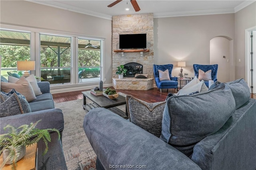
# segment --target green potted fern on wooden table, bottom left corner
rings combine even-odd
[[[40,121],[41,120],[36,121],[36,123],[30,123],[30,125],[21,125],[18,128],[12,125],[4,127],[7,133],[0,135],[0,154],[3,153],[1,169],[5,164],[10,164],[12,170],[16,170],[18,160],[25,156],[26,145],[38,143],[40,139],[43,139],[45,143],[46,148],[43,155],[46,154],[48,151],[48,142],[51,141],[49,131],[57,132],[60,139],[58,129],[36,129],[36,125]]]

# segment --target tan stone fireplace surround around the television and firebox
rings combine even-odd
[[[114,52],[119,49],[119,34],[147,34],[147,49],[149,52]],[[153,13],[120,15],[112,18],[112,84],[115,89],[122,90],[148,90],[154,87],[154,22]],[[143,74],[148,74],[147,79],[124,77],[118,79],[117,66],[126,63],[139,63],[143,66]]]

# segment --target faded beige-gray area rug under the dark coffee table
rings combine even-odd
[[[55,103],[55,108],[62,109],[64,115],[62,145],[68,170],[96,169],[96,154],[84,133],[83,121],[88,111],[83,109],[82,102],[79,99]],[[86,102],[91,103],[88,99]],[[119,108],[125,111],[125,105]]]

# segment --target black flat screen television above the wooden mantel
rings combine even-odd
[[[144,34],[120,34],[120,49],[145,49],[147,48],[147,35]]]

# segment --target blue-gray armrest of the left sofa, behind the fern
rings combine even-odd
[[[10,124],[14,127],[19,127],[20,125],[30,123],[35,123],[36,121],[41,120],[36,128],[38,129],[48,129],[48,128],[56,128],[62,133],[64,129],[64,117],[61,109],[47,109],[41,111],[35,111],[30,113],[24,113],[13,116],[1,117],[1,131],[0,133],[5,133],[4,127]]]

